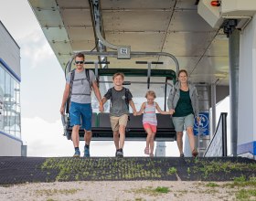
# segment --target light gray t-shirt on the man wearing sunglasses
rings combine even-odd
[[[89,80],[86,78],[85,69],[81,72],[77,72],[74,70],[75,76],[73,80],[73,85],[71,89],[71,101],[77,103],[91,103],[91,88],[89,84]],[[70,75],[67,75],[67,83],[70,84]],[[90,81],[95,81],[95,76],[92,70],[89,70]],[[76,95],[80,94],[80,95]],[[89,95],[81,95],[81,94],[89,94]]]

